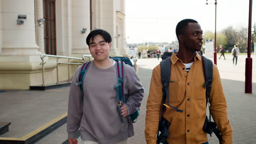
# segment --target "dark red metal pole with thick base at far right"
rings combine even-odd
[[[252,58],[251,58],[251,46],[252,46],[252,0],[249,0],[249,25],[248,25],[248,49],[246,58],[246,79],[245,79],[245,93],[252,93]]]

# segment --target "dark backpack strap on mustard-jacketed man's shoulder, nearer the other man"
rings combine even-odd
[[[165,99],[167,100],[167,106],[169,105],[169,82],[171,78],[171,57],[167,57],[163,61],[160,62],[161,65],[161,80],[162,80],[162,104],[165,103]],[[179,110],[177,107],[170,106],[177,112],[183,112],[183,110]],[[162,115],[162,113],[161,113]]]

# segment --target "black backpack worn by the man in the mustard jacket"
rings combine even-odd
[[[170,127],[170,123],[163,117],[164,111],[165,111],[165,99],[167,101],[167,106],[172,107],[177,112],[183,112],[183,110],[177,109],[177,107],[170,106],[169,105],[169,82],[171,78],[171,55],[172,52],[164,52],[164,55],[162,55],[162,61],[160,62],[161,65],[161,79],[162,79],[162,102],[161,106],[162,109],[160,110],[160,121],[158,126],[158,134],[156,137],[158,138],[157,143],[167,143],[166,139],[169,135],[168,128]],[[200,53],[199,53],[200,55]],[[209,103],[209,95],[211,91],[211,84],[212,84],[212,75],[213,75],[213,64],[212,61],[206,57],[202,57],[203,62],[203,74],[205,76],[205,84],[203,85],[203,88],[206,88],[206,106],[207,103]],[[210,106],[210,104],[208,104]],[[210,111],[210,107],[209,107]],[[216,136],[219,139],[219,143],[222,141],[222,136],[220,135],[219,130],[217,129],[217,125],[215,122],[211,122],[211,112],[210,112],[210,121],[208,117],[206,116],[205,123],[203,124],[203,131],[205,131],[207,134],[210,134],[212,136],[212,133],[216,134]]]

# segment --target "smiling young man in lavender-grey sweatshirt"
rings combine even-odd
[[[124,65],[124,97],[126,103],[121,107],[123,122],[120,120],[117,96],[116,62],[109,58],[112,38],[107,31],[96,29],[86,38],[91,62],[83,81],[83,93],[78,85],[81,67],[77,68],[72,80],[67,116],[69,143],[77,143],[75,132],[80,128],[83,144],[87,143],[128,143],[127,138],[134,135],[129,115],[139,109],[144,88],[135,70]]]

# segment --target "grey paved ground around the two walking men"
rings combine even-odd
[[[237,66],[232,65],[231,56],[218,61],[218,69],[228,103],[228,116],[234,130],[233,143],[256,143],[256,57],[253,57],[253,94],[245,94],[245,58],[238,57]],[[135,136],[129,143],[146,143],[144,140],[144,118],[152,69],[159,64],[156,58],[138,59],[138,75],[145,88],[138,121],[134,124]],[[45,123],[67,112],[69,87],[48,91],[7,91],[0,93],[0,121],[11,122],[9,133],[1,137],[22,137]],[[67,139],[66,124],[45,136],[39,143],[62,143]],[[218,143],[215,136],[210,143]]]

